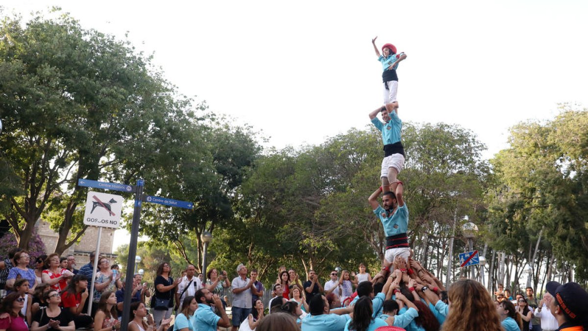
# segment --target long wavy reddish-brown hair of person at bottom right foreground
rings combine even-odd
[[[449,313],[443,331],[503,330],[496,306],[482,284],[458,280],[449,287]]]

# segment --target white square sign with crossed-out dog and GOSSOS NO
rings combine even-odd
[[[121,224],[123,198],[115,194],[88,192],[83,224],[118,228]]]

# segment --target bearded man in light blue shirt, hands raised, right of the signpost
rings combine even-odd
[[[217,327],[229,327],[230,320],[226,316],[225,308],[218,294],[212,294],[207,289],[199,289],[194,294],[194,299],[198,302],[198,309],[194,313],[193,326],[198,331],[216,331]],[[212,305],[220,313],[220,317],[212,312]]]

